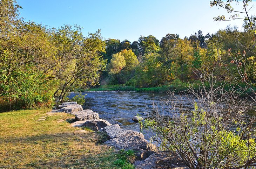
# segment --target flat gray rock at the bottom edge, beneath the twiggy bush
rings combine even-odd
[[[135,162],[135,165],[137,162],[138,161]],[[136,165],[136,169],[155,168],[189,169],[185,163],[183,163],[176,156],[170,155],[168,152],[154,153]]]

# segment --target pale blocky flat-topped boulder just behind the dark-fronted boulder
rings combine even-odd
[[[72,113],[75,115],[76,121],[81,121],[81,120],[97,120],[100,119],[99,114],[93,112],[92,110],[82,110],[78,112]]]

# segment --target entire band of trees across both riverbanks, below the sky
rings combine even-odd
[[[167,91],[196,83],[207,71],[220,81],[239,79],[250,84],[248,93],[255,92],[254,16],[244,20],[243,31],[228,26],[213,34],[199,30],[184,38],[171,33],[121,42],[104,39],[100,30],[85,37],[77,25],[49,28],[25,21],[19,8],[1,1],[1,111],[52,106],[69,92],[116,84]]]

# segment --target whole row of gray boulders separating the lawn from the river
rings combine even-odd
[[[118,124],[110,124],[107,120],[100,119],[99,114],[92,110],[83,110],[76,102],[65,102],[57,106],[55,112],[66,112],[75,116],[73,127],[85,126],[93,131],[105,132],[108,140],[104,145],[114,147],[116,150],[134,150],[136,155],[136,168],[187,168],[178,158],[161,152],[157,147],[148,142],[140,132],[121,129]],[[165,166],[165,167],[164,167]]]

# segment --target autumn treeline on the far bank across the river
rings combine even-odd
[[[254,34],[230,26],[211,35],[199,30],[183,39],[177,34],[167,34],[160,41],[152,35],[132,43],[108,39],[103,54],[108,64],[101,84],[153,87],[174,80],[195,82],[207,71],[214,71],[220,80],[235,75],[241,83],[255,83],[255,51]],[[244,79],[237,68],[246,70]]]

